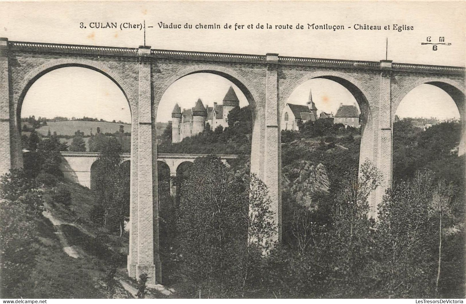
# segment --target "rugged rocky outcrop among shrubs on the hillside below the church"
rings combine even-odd
[[[282,187],[289,191],[296,202],[313,208],[312,197],[316,192],[329,192],[330,181],[322,163],[315,165],[301,161],[298,165],[288,165],[282,169]]]

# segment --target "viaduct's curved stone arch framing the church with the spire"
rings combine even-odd
[[[288,86],[288,88],[283,92],[283,94],[280,97],[279,117],[281,117],[283,108],[285,108],[285,104],[288,101],[288,98],[291,95],[291,93],[293,93],[293,91],[300,85],[302,85],[304,82],[315,78],[322,78],[335,81],[336,83],[341,84],[344,88],[346,88],[354,96],[356,102],[359,105],[359,108],[361,109],[361,114],[363,116],[363,126],[366,122],[368,122],[368,120],[370,119],[370,103],[368,101],[368,96],[370,96],[369,91],[366,90],[366,88],[360,81],[350,76],[349,74],[331,70],[316,71],[310,74],[306,74],[294,83],[292,83],[290,86]]]

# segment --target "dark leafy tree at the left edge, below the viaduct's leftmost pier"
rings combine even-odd
[[[42,193],[23,170],[0,178],[0,294],[27,295],[36,264],[37,243],[43,219]]]

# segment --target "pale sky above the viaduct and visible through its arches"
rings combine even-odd
[[[146,26],[153,26],[147,28],[146,45],[158,49],[240,54],[279,53],[286,56],[379,61],[385,59],[385,43],[388,38],[389,60],[464,66],[465,12],[464,1],[0,1],[0,36],[16,41],[137,47],[144,43],[143,31],[96,29],[90,28],[90,23],[137,24],[145,20]],[[80,28],[80,22],[86,28]],[[160,22],[182,25],[189,23],[193,26],[199,23],[216,23],[222,28],[164,29],[158,26]],[[223,29],[225,23],[233,25],[233,28]],[[245,26],[234,30],[235,23]],[[336,31],[247,29],[248,24],[255,27],[257,23],[273,26],[315,23],[343,25],[346,28]],[[382,27],[404,24],[414,29],[401,32],[356,30],[355,24]],[[430,46],[421,45],[428,36],[432,39],[444,36],[445,42],[451,45],[439,46],[438,51],[432,51]],[[56,115],[86,115],[106,120],[112,118],[111,120],[129,121],[127,102],[117,86],[95,71],[83,70],[56,70],[42,76],[27,93],[22,116],[30,113],[52,117],[55,116],[59,104],[63,104],[63,112]],[[209,105],[214,101],[221,101],[231,83],[212,77],[203,74],[190,75],[173,84],[162,99],[158,120],[166,121],[171,118],[175,102],[182,108],[189,108],[197,98]],[[321,80],[303,83],[288,102],[305,104],[308,88],[311,86],[319,110],[335,113],[339,102],[354,102],[346,89],[339,88],[339,85],[331,81],[319,81]],[[240,100],[244,98],[238,88],[233,88]],[[329,92],[331,95],[327,94]],[[397,114],[458,116],[453,101],[443,93],[429,85],[419,86],[406,96]],[[323,97],[332,102],[320,105]],[[422,111],[419,112],[420,110]]]

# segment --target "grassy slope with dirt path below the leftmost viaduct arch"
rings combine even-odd
[[[35,298],[107,298],[110,297],[103,284],[105,271],[109,268],[108,257],[113,251],[127,245],[128,236],[110,237],[102,243],[96,236],[108,233],[89,221],[89,211],[94,205],[90,190],[78,184],[66,183],[72,194],[72,204],[64,207],[50,205],[45,195],[47,209],[52,215],[65,222],[60,227],[70,246],[79,253],[79,258],[69,257],[62,249],[55,227],[48,219],[40,225],[41,237],[37,244],[36,267],[29,283],[34,288],[26,297]],[[110,245],[110,246],[109,246]],[[110,248],[109,248],[110,247]],[[120,266],[124,267],[124,255]],[[22,296],[21,294],[19,296]],[[23,296],[23,297],[25,297]],[[131,298],[117,285],[117,298]]]

